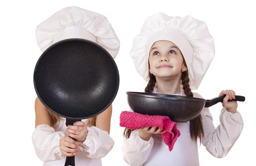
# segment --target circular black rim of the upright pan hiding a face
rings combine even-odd
[[[75,41],[75,40],[89,42],[89,43],[91,43],[91,44],[93,44],[93,45],[96,45],[97,47],[101,48],[103,51],[105,51],[105,53],[108,54],[109,58],[110,58],[111,61],[113,62],[113,65],[114,65],[115,68],[116,68],[116,74],[117,74],[117,82],[116,82],[116,83],[117,83],[117,87],[116,87],[116,91],[115,91],[115,94],[113,95],[112,100],[109,102],[109,104],[108,104],[104,109],[102,109],[99,113],[96,113],[96,114],[94,114],[94,115],[87,116],[87,117],[81,117],[81,118],[73,118],[73,117],[68,117],[68,116],[65,116],[65,115],[61,115],[61,114],[56,113],[55,111],[53,111],[51,108],[49,108],[49,107],[47,106],[47,104],[44,103],[44,101],[42,100],[41,96],[39,95],[38,90],[37,90],[37,86],[36,86],[36,83],[35,83],[35,71],[37,70],[38,64],[39,64],[41,58],[44,56],[44,54],[45,54],[49,49],[51,49],[51,48],[54,47],[55,45],[58,45],[59,43],[67,42],[67,41]],[[99,115],[100,113],[104,112],[108,107],[110,107],[110,105],[113,103],[114,99],[116,98],[117,93],[118,93],[118,90],[119,90],[120,76],[119,76],[119,70],[118,70],[118,68],[117,68],[117,65],[116,65],[115,60],[113,59],[113,57],[111,56],[111,54],[110,54],[105,48],[103,48],[101,45],[98,45],[97,43],[92,42],[92,41],[87,40],[87,39],[70,38],[70,39],[64,39],[64,40],[61,40],[61,41],[59,41],[59,42],[56,42],[55,44],[49,46],[49,47],[41,54],[41,56],[38,58],[38,61],[36,62],[36,65],[35,65],[35,69],[34,69],[34,72],[33,72],[33,82],[34,82],[35,92],[36,92],[36,94],[37,94],[39,100],[42,102],[42,104],[44,104],[45,107],[47,107],[48,110],[50,110],[52,113],[55,113],[56,115],[61,116],[62,118],[74,119],[74,120],[81,120],[81,119],[92,118],[92,117],[94,117],[94,116],[96,116],[96,115]]]

